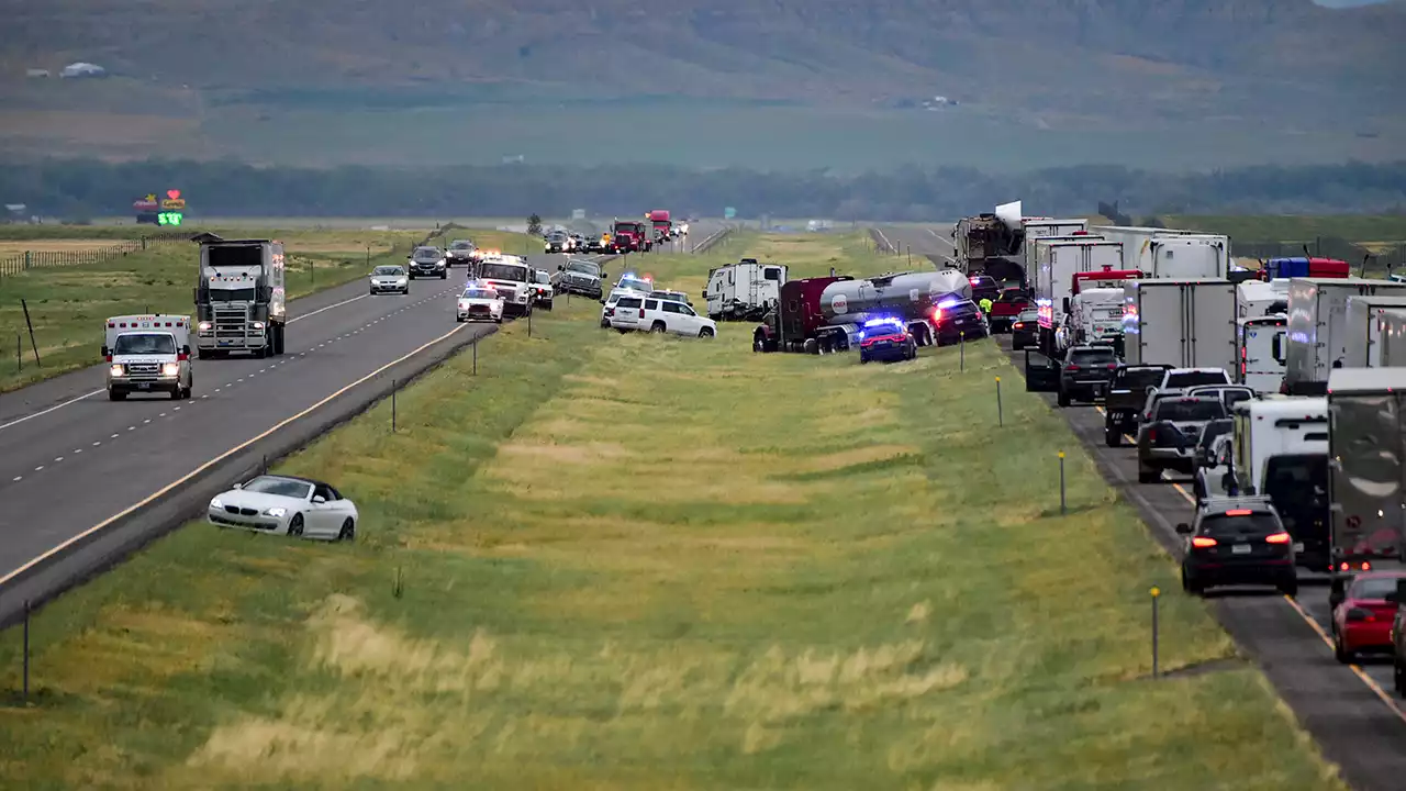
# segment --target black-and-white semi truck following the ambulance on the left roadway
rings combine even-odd
[[[205,238],[195,277],[197,357],[229,352],[267,357],[284,352],[288,315],[283,242]]]

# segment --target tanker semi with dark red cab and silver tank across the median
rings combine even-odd
[[[845,350],[858,327],[880,317],[904,322],[920,346],[938,339],[939,304],[969,300],[972,284],[956,269],[901,272],[856,280],[807,277],[780,287],[780,300],[752,334],[762,352],[828,353]]]

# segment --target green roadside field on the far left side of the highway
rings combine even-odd
[[[20,228],[37,228],[25,225]],[[42,228],[42,227],[38,227]],[[73,231],[75,227],[65,225]],[[0,227],[4,229],[4,227]],[[98,231],[98,228],[82,228]],[[118,228],[117,231],[125,231]],[[197,231],[191,231],[193,234]],[[221,229],[215,229],[221,232]],[[24,248],[53,249],[66,239],[101,239],[97,235],[49,232],[39,238],[0,238],[0,258]],[[364,277],[368,265],[399,262],[423,232],[406,231],[269,231],[228,229],[229,238],[277,238],[288,253],[288,297]],[[498,231],[474,232],[485,246],[520,245],[526,236]],[[107,236],[118,243],[122,236]],[[94,241],[94,245],[98,242]],[[0,391],[100,362],[103,319],[134,312],[190,314],[197,248],[188,242],[152,245],[103,263],[31,269],[0,277]],[[21,301],[22,300],[22,301]],[[24,318],[28,304],[34,341]],[[24,349],[15,359],[15,345]],[[35,365],[34,348],[42,365]]]

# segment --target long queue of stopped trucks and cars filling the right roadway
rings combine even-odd
[[[959,265],[1031,273],[1010,325],[1026,388],[1095,405],[1105,445],[1129,448],[1114,459],[1185,495],[1184,590],[1326,583],[1336,657],[1392,657],[1406,697],[1406,283],[1310,255],[1241,267],[1226,236],[1018,207],[959,224]]]

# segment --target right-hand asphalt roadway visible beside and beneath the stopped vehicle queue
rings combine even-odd
[[[1011,350],[1010,335],[997,341],[1024,370],[1025,355]],[[1191,521],[1191,479],[1139,484],[1136,450],[1126,442],[1122,448],[1104,443],[1101,407],[1060,410],[1053,394],[1045,398],[1069,419],[1109,486],[1139,510],[1152,536],[1180,559],[1182,539],[1175,525]],[[1391,692],[1391,660],[1344,666],[1333,659],[1326,580],[1301,571],[1296,598],[1254,590],[1212,591],[1206,598],[1354,788],[1399,790],[1406,785],[1406,714]],[[1167,595],[1188,594],[1178,590]]]

